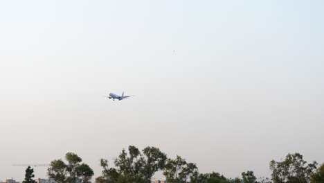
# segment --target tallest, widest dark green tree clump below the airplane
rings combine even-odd
[[[150,183],[156,171],[165,167],[167,157],[159,148],[147,147],[141,153],[135,146],[128,147],[128,153],[122,150],[114,164],[116,168],[109,168],[106,159],[100,160],[103,168],[102,176],[97,183]]]

